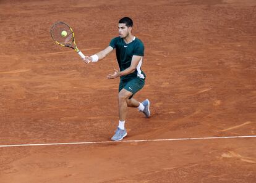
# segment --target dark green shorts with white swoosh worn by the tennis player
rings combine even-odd
[[[119,92],[124,88],[129,92],[132,92],[131,99],[135,93],[137,93],[145,84],[145,79],[142,78],[132,78],[132,79],[120,79]]]

